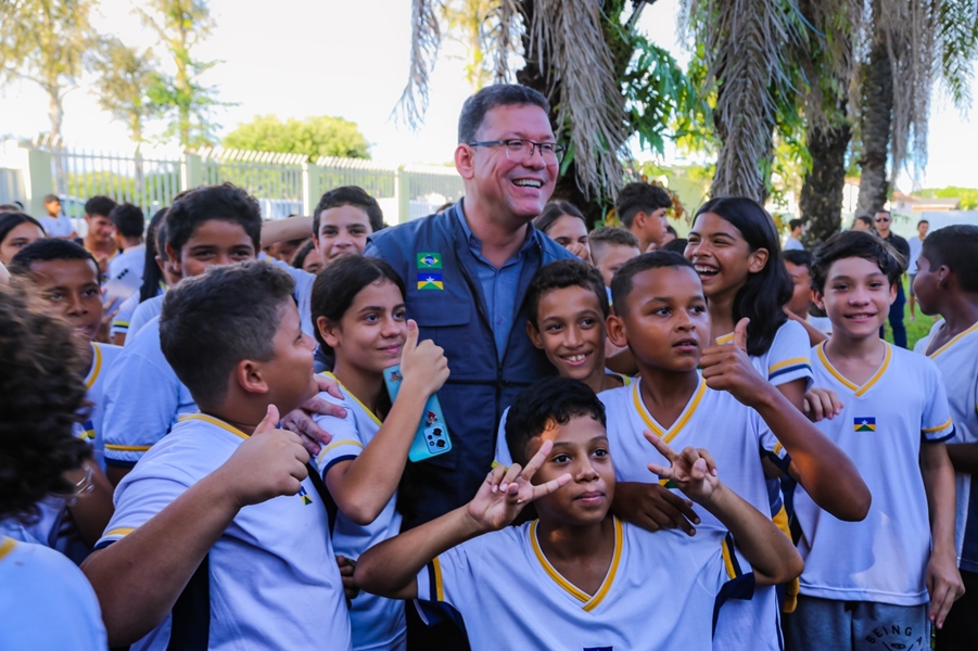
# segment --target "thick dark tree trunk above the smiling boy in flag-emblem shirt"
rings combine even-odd
[[[848,123],[821,128],[809,125],[808,148],[812,170],[801,187],[799,207],[809,225],[805,243],[817,245],[841,229],[842,190],[846,187],[846,151],[852,139]]]

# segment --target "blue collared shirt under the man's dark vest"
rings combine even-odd
[[[458,221],[466,231],[466,238],[469,239],[469,251],[472,252],[472,258],[463,259],[462,264],[479,279],[482,296],[485,299],[486,314],[493,326],[493,339],[496,340],[496,357],[503,361],[509,333],[512,331],[512,320],[520,309],[516,295],[520,286],[520,273],[523,271],[525,253],[533,246],[533,232],[532,230],[526,232],[526,239],[520,250],[497,269],[482,257],[482,240],[477,238],[469,228],[461,203],[459,203],[457,214]]]

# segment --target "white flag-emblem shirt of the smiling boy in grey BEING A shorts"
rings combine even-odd
[[[844,405],[840,414],[815,426],[855,463],[873,503],[862,522],[842,522],[798,487],[801,593],[893,605],[926,603],[930,524],[920,445],[947,441],[953,432],[940,371],[923,355],[886,344],[879,370],[856,386],[831,366],[823,344],[813,357],[818,386],[836,392]]]

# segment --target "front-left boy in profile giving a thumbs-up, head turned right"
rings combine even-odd
[[[119,484],[115,515],[82,566],[110,646],[153,631],[149,646],[160,649],[350,648],[309,455],[299,435],[275,429],[279,409],[317,392],[293,290],[285,271],[250,261],[167,292],[161,346],[201,412]]]

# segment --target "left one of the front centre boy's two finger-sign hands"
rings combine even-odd
[[[512,522],[528,503],[550,495],[561,486],[571,482],[570,473],[563,473],[556,480],[534,486],[533,475],[547,460],[554,448],[552,441],[545,441],[526,468],[513,463],[508,469],[497,465],[490,471],[482,486],[467,507],[469,518],[475,521],[481,531],[493,532]]]

